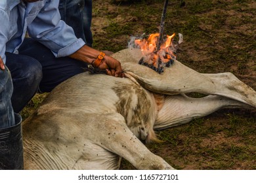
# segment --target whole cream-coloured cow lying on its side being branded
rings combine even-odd
[[[136,49],[114,58],[126,78],[76,75],[24,121],[25,169],[119,169],[121,158],[137,169],[173,169],[141,142],[156,140],[154,129],[220,108],[256,108],[256,92],[231,73],[201,74],[175,61],[160,75],[137,64]]]

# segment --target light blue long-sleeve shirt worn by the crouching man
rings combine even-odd
[[[72,27],[60,20],[58,3],[58,0],[0,1],[0,56],[4,63],[5,52],[18,54],[27,31],[30,37],[50,48],[56,57],[73,54],[85,44],[75,37]]]

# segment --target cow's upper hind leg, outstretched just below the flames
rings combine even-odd
[[[129,75],[152,92],[167,95],[190,92],[221,95],[256,108],[256,92],[232,73],[201,74],[178,61],[173,67],[166,68],[161,75],[149,68],[142,68],[141,65],[130,64],[128,69],[133,71],[127,71]],[[142,75],[141,71],[144,71]]]

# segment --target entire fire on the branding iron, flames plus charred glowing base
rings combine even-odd
[[[160,45],[158,45],[159,35],[159,33],[155,33],[151,34],[148,39],[135,39],[134,44],[136,48],[140,48],[143,54],[139,63],[161,73],[164,66],[169,67],[173,63],[173,59],[176,59],[175,54],[173,54],[175,33],[171,36],[167,35],[165,41],[161,42]]]

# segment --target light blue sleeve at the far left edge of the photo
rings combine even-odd
[[[5,10],[0,8],[0,56],[3,59],[3,63],[6,62],[5,58],[5,50],[6,50],[6,43],[8,41],[9,37],[9,30],[10,30],[10,21],[9,16],[7,16],[7,13]]]

